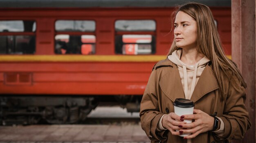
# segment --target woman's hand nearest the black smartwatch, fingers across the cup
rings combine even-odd
[[[198,134],[202,132],[207,132],[213,129],[214,117],[211,117],[207,113],[204,113],[201,110],[194,109],[195,114],[191,115],[183,115],[184,119],[194,119],[195,121],[189,124],[184,124],[183,128],[180,132],[183,133],[191,133],[191,135],[184,137],[184,139],[191,139],[196,137]]]

